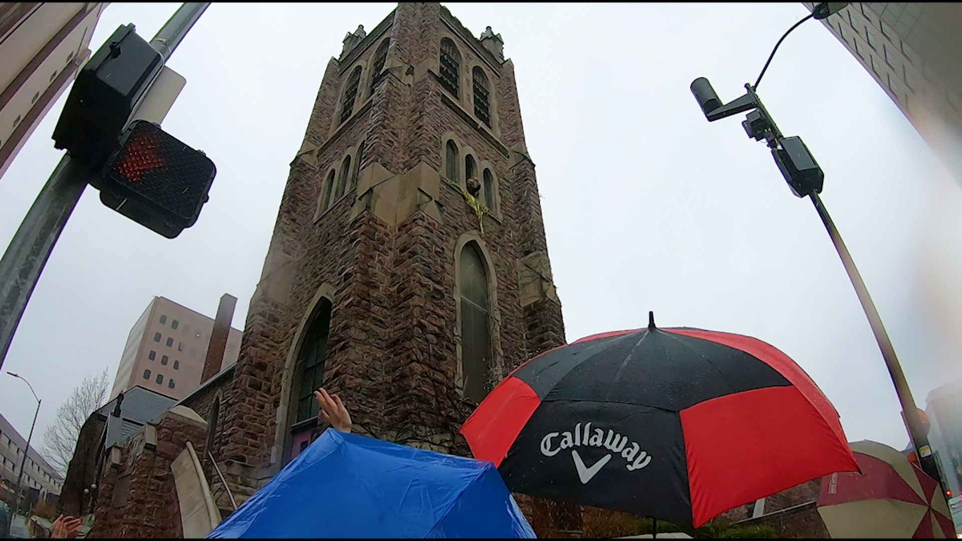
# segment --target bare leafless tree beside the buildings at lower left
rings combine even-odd
[[[57,420],[43,433],[43,455],[61,475],[66,476],[80,428],[90,414],[103,405],[109,386],[107,369],[100,375],[85,377],[57,409]]]

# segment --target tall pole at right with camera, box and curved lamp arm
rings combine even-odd
[[[749,85],[746,83],[746,93],[741,97],[728,103],[722,103],[722,100],[719,99],[718,94],[712,88],[711,83],[704,77],[698,77],[692,83],[691,90],[692,93],[695,94],[698,106],[701,107],[701,112],[704,113],[709,122],[714,122],[727,116],[747,113],[745,120],[742,121],[742,127],[745,128],[747,136],[755,141],[766,142],[772,151],[772,159],[774,159],[775,165],[778,167],[778,170],[781,171],[782,176],[785,177],[785,181],[788,183],[789,188],[792,189],[792,193],[795,193],[798,197],[809,197],[812,200],[812,204],[815,205],[815,210],[819,213],[819,218],[822,219],[825,230],[828,231],[828,236],[831,238],[832,244],[835,245],[835,249],[842,259],[842,264],[848,272],[848,279],[851,280],[851,284],[855,288],[855,293],[858,295],[862,309],[869,319],[869,324],[872,326],[875,342],[882,352],[882,357],[885,359],[889,375],[892,377],[896,393],[899,396],[902,417],[908,428],[916,456],[919,457],[919,463],[923,471],[929,477],[935,479],[941,486],[942,479],[941,476],[939,476],[938,466],[935,463],[935,455],[928,445],[928,435],[924,428],[922,418],[919,415],[919,409],[915,405],[915,399],[912,398],[912,392],[905,380],[905,374],[902,373],[899,357],[896,355],[896,350],[892,346],[892,341],[889,339],[888,332],[885,330],[885,325],[882,324],[882,319],[878,315],[878,310],[875,308],[872,296],[869,295],[869,290],[866,288],[858,269],[855,268],[851,254],[848,253],[848,247],[846,247],[842,241],[842,236],[828,215],[822,198],[819,196],[819,193],[822,193],[824,180],[822,167],[819,167],[818,162],[815,161],[815,157],[812,156],[812,153],[808,150],[808,147],[805,146],[805,143],[801,141],[801,138],[785,137],[782,135],[772,116],[768,110],[765,109],[765,105],[762,104],[762,100],[759,99],[758,94],[755,92],[758,89],[758,84],[762,81],[762,77],[765,75],[765,71],[769,68],[769,64],[772,63],[772,58],[775,55],[775,51],[778,50],[778,45],[781,45],[781,42],[791,34],[793,30],[809,19],[823,19],[832,13],[838,13],[846,6],[848,6],[848,3],[844,2],[820,3],[815,6],[811,14],[789,28],[788,31],[782,35],[781,39],[778,39],[778,42],[775,43],[772,54],[769,55],[769,59],[762,68],[761,73],[759,73],[758,79],[755,80],[755,84]],[[945,492],[943,492],[943,494],[945,494]]]

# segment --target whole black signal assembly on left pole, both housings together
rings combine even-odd
[[[54,130],[105,205],[168,239],[197,221],[216,173],[203,152],[135,120],[163,119],[184,84],[173,74],[171,86],[171,73],[134,25],[121,26],[77,75]]]

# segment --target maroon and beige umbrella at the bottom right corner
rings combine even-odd
[[[861,474],[822,479],[819,515],[832,537],[955,537],[935,479],[887,445],[863,441],[851,450]]]

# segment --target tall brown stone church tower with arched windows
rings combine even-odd
[[[321,385],[360,434],[467,454],[474,406],[565,343],[502,47],[402,3],[327,64],[240,359],[191,403],[239,500],[309,444]]]

